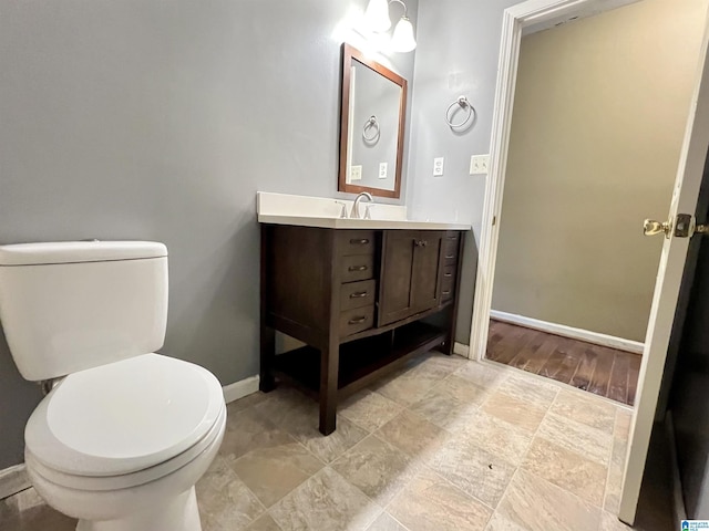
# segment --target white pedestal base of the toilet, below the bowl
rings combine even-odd
[[[79,520],[76,531],[202,531],[195,488],[119,520]]]

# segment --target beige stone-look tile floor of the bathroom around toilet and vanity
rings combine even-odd
[[[229,405],[197,485],[205,531],[616,531],[630,410],[496,364],[431,354],[348,399],[329,437],[280,388]],[[75,523],[32,489],[0,529]]]

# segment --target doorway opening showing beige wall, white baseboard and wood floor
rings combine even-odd
[[[662,249],[639,227],[671,200],[707,2],[692,3],[521,39],[486,358],[634,404]]]

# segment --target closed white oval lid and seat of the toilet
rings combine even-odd
[[[55,470],[119,476],[191,448],[223,407],[222,386],[207,369],[145,354],[69,375],[37,407],[24,438]]]

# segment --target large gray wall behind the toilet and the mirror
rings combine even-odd
[[[165,242],[162,352],[223,384],[256,374],[255,194],[336,194],[351,6],[0,0],[0,243]],[[413,61],[392,58],[409,80]],[[39,399],[0,340],[0,469]]]

